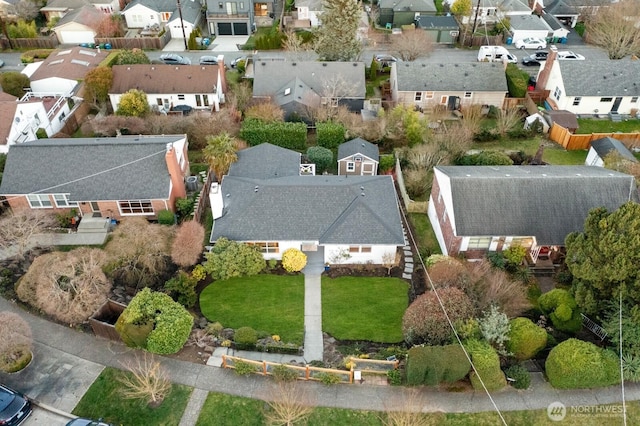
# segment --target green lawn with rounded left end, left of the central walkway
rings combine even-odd
[[[225,327],[251,327],[302,344],[304,276],[254,275],[215,281],[200,294],[200,310]]]

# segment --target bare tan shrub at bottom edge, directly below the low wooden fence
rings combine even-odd
[[[294,425],[303,422],[314,410],[314,404],[309,396],[308,386],[300,386],[296,381],[278,381],[267,402],[270,410],[265,418],[272,425]]]

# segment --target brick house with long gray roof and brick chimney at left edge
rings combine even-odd
[[[17,144],[7,154],[0,196],[14,210],[156,219],[186,196],[187,149],[186,135]]]

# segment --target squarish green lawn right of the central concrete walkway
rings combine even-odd
[[[340,340],[401,342],[407,290],[399,278],[322,277],[322,330]]]

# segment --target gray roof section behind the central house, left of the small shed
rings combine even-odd
[[[271,179],[300,175],[300,153],[270,143],[262,143],[238,152],[229,176]],[[226,177],[225,177],[226,179]]]

